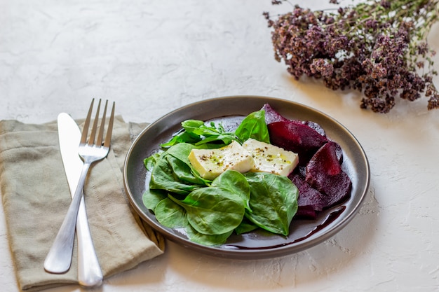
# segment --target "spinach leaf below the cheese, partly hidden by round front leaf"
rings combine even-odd
[[[245,209],[251,211],[250,185],[241,172],[236,172],[236,170],[229,169],[217,176],[217,178],[212,181],[211,186],[227,188],[227,190],[230,190],[231,193],[235,193],[241,197],[243,199]]]

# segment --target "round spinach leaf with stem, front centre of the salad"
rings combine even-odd
[[[180,201],[191,226],[205,235],[221,235],[234,230],[243,220],[245,207],[241,197],[225,188],[198,188]]]

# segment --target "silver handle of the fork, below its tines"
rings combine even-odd
[[[44,260],[44,270],[47,272],[62,274],[67,272],[72,264],[76,218],[78,217],[79,204],[83,198],[84,182],[89,168],[90,162],[84,162],[72,202],[46,260]]]

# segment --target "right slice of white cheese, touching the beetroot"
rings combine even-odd
[[[299,163],[296,153],[255,139],[245,141],[243,148],[250,152],[255,162],[250,172],[271,172],[288,176]]]

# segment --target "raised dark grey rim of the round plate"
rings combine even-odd
[[[130,155],[132,155],[134,148],[136,147],[138,141],[142,139],[145,133],[147,133],[151,128],[154,128],[155,125],[160,123],[163,120],[166,120],[169,117],[174,116],[176,113],[179,113],[180,111],[185,111],[187,109],[194,108],[196,106],[200,106],[203,104],[208,104],[212,102],[222,102],[222,101],[230,101],[231,99],[258,99],[259,101],[266,101],[266,103],[270,103],[270,101],[276,101],[281,103],[288,103],[291,106],[295,106],[297,108],[306,109],[307,111],[311,111],[318,116],[321,116],[322,118],[325,118],[327,120],[330,120],[332,123],[335,123],[337,127],[341,128],[346,132],[346,134],[349,135],[349,137],[352,139],[352,141],[356,144],[356,147],[360,150],[360,156],[365,162],[365,174],[361,174],[362,176],[365,176],[365,185],[364,188],[362,188],[359,200],[357,200],[356,204],[351,208],[351,211],[349,213],[344,214],[341,221],[339,221],[335,226],[332,226],[329,230],[326,230],[322,235],[311,238],[309,240],[306,240],[303,244],[294,246],[294,248],[291,248],[288,245],[285,246],[279,246],[275,247],[273,249],[224,249],[221,246],[205,246],[202,244],[197,244],[195,242],[191,242],[189,239],[185,239],[183,237],[177,237],[177,235],[171,234],[167,231],[167,229],[163,225],[156,224],[154,221],[151,220],[142,209],[140,209],[139,206],[137,206],[137,202],[135,200],[135,197],[130,191],[130,188],[128,186],[128,162]],[[214,118],[214,117],[212,117]],[[323,127],[323,126],[322,126]],[[325,129],[325,127],[323,127]],[[126,190],[126,195],[128,197],[128,200],[132,207],[135,209],[136,213],[144,220],[146,223],[153,228],[156,232],[159,232],[163,237],[166,237],[167,239],[170,239],[173,242],[176,242],[177,244],[180,244],[186,248],[199,251],[201,253],[205,253],[211,256],[219,256],[222,258],[235,258],[235,259],[256,259],[256,258],[275,258],[278,256],[285,256],[286,254],[296,253],[299,251],[303,251],[305,249],[309,249],[312,246],[316,246],[317,244],[320,244],[321,242],[325,241],[326,239],[329,239],[330,237],[334,236],[337,232],[342,230],[352,219],[353,217],[358,213],[358,210],[360,209],[361,204],[363,204],[363,201],[365,199],[365,196],[367,194],[367,191],[370,187],[370,164],[367,159],[367,155],[363,149],[363,146],[359,143],[358,139],[352,134],[352,132],[347,129],[342,123],[339,123],[338,120],[335,118],[332,118],[331,116],[327,115],[326,113],[323,113],[323,111],[320,111],[318,109],[314,109],[311,106],[307,106],[305,104],[294,102],[289,99],[283,99],[278,97],[266,97],[262,95],[229,95],[224,97],[212,97],[208,99],[203,99],[198,102],[192,102],[189,104],[186,104],[184,106],[180,106],[177,109],[174,109],[172,111],[169,111],[165,115],[161,116],[160,118],[157,118],[154,120],[154,122],[147,125],[147,127],[144,127],[144,129],[135,137],[133,142],[130,145],[130,148],[128,149],[128,152],[126,153],[126,158],[123,164],[123,185]],[[350,200],[350,199],[349,199]]]

